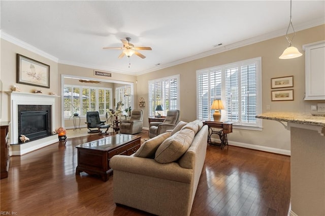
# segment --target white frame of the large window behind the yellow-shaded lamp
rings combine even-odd
[[[226,111],[226,107],[227,104],[225,104],[226,102],[226,70],[227,69],[231,69],[231,68],[237,68],[238,69],[238,78],[237,78],[237,88],[241,89],[243,88],[243,86],[241,85],[241,70],[242,70],[242,66],[247,66],[247,65],[251,65],[251,64],[255,64],[256,68],[255,68],[255,82],[256,82],[256,90],[255,90],[255,98],[256,98],[256,115],[262,112],[262,57],[256,57],[256,58],[251,58],[251,59],[247,59],[247,60],[243,60],[243,61],[238,61],[238,62],[233,62],[233,63],[229,63],[229,64],[223,64],[223,65],[218,65],[218,66],[213,66],[213,67],[209,67],[209,68],[204,68],[204,69],[200,69],[197,70],[197,84],[196,84],[196,92],[197,92],[197,118],[200,118],[200,76],[202,74],[208,73],[208,87],[207,87],[207,94],[208,94],[208,104],[212,104],[212,99],[211,99],[211,79],[210,79],[210,73],[212,73],[212,71],[218,71],[221,70],[221,100],[224,103],[225,106],[225,110],[222,110],[222,117],[224,118],[225,121],[228,121],[228,116]],[[238,87],[240,86],[240,88]],[[214,88],[215,89],[215,88]],[[239,91],[238,93],[238,97],[242,98],[241,95],[241,91]],[[242,99],[241,99],[242,100]],[[241,111],[241,102],[238,102],[238,112]],[[213,121],[212,115],[209,115],[211,113],[211,105],[208,106],[208,119],[209,121]],[[262,120],[261,119],[257,119],[256,118],[256,123],[243,123],[241,122],[242,118],[241,118],[241,114],[238,115],[239,116],[239,122],[234,122],[233,126],[234,128],[239,128],[239,129],[248,129],[248,130],[262,130]],[[206,120],[206,119],[202,119],[202,120]]]

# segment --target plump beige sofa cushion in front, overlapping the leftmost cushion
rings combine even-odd
[[[194,138],[194,131],[182,129],[173,136],[167,138],[158,147],[155,153],[155,160],[159,163],[171,163],[177,161],[191,145]]]

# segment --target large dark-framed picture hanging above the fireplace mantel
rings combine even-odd
[[[17,83],[50,88],[50,65],[17,53]]]

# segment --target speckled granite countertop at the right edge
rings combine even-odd
[[[324,116],[312,116],[308,113],[270,112],[259,114],[256,118],[325,127]]]

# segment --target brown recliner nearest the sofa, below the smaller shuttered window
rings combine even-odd
[[[164,122],[150,122],[149,138],[153,138],[167,130],[173,130],[179,122],[179,110],[167,111],[167,116]]]

